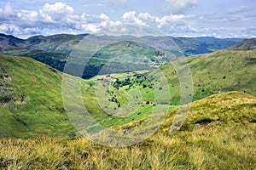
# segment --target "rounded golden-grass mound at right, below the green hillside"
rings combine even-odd
[[[185,106],[180,106],[185,107]],[[181,131],[198,128],[224,128],[254,126],[256,122],[256,98],[241,92],[214,94],[192,103],[189,115],[183,121],[183,112],[175,118],[177,109],[168,113],[160,132],[171,132],[181,126]],[[171,128],[170,128],[171,127]]]

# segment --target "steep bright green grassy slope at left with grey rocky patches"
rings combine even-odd
[[[60,136],[73,131],[62,105],[60,72],[33,59],[3,55],[0,67],[11,79],[0,82],[14,92],[11,105],[0,107],[2,138]]]

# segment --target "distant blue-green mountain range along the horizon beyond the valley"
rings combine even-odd
[[[79,42],[84,40],[84,37],[88,37],[89,34],[81,35],[68,35],[59,34],[49,37],[35,36],[27,39],[20,39],[14,36],[8,36],[0,34],[0,54],[8,54],[14,56],[24,56],[36,59],[44,64],[50,65],[58,71],[63,71],[67,62],[69,54],[73,51]],[[136,70],[151,70],[172,58],[166,58],[161,56],[167,56],[166,53],[172,53],[176,57],[189,56],[198,54],[208,54],[219,49],[230,48],[240,39],[218,39],[215,37],[108,37],[99,36],[95,37],[99,41],[116,41],[112,45],[108,45],[108,48],[102,48],[89,60],[83,73],[83,78],[94,77],[101,71],[102,66],[106,63],[112,63],[112,65],[123,65],[121,69],[108,69],[105,73],[124,71],[136,71]],[[124,43],[128,42],[128,43]],[[144,43],[143,45],[140,43]],[[119,43],[119,44],[118,44]],[[132,44],[131,46],[129,44]],[[153,47],[151,47],[153,46]],[[173,46],[174,48],[169,48]],[[118,47],[118,48],[116,48]],[[166,48],[167,47],[167,48]],[[90,50],[91,47],[84,47]],[[110,56],[111,50],[115,50],[115,54],[121,54],[119,56]],[[118,53],[117,53],[118,52]],[[112,53],[113,54],[113,53]],[[125,56],[124,56],[125,54]],[[136,55],[134,55],[136,54]],[[137,60],[132,62],[132,66],[126,68],[124,60],[127,56],[130,56],[131,60]],[[144,58],[146,56],[146,58]],[[74,67],[81,66],[81,59],[86,57],[84,54],[79,54],[78,62],[74,63]],[[90,56],[91,57],[91,56]],[[117,60],[116,58],[119,57]],[[115,58],[115,59],[113,59]],[[127,61],[128,59],[126,59]],[[126,62],[125,61],[125,62]],[[138,62],[141,61],[141,62]],[[147,63],[145,65],[145,63]],[[111,68],[111,66],[109,66]],[[112,67],[113,68],[113,67]],[[70,73],[74,76],[78,76],[74,73]]]

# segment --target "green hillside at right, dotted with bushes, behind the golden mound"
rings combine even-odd
[[[212,94],[240,91],[256,96],[256,52],[220,50],[187,58],[193,78],[194,100]],[[172,91],[172,105],[179,101],[179,82],[172,62],[161,67]]]

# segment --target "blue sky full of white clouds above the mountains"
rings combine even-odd
[[[174,37],[256,37],[255,0],[1,0],[0,32],[93,33],[135,23]]]

